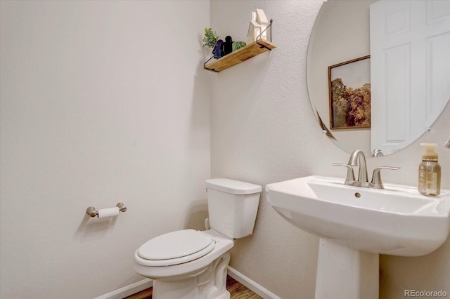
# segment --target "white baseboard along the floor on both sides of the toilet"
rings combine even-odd
[[[243,284],[247,288],[250,288],[253,292],[257,293],[257,295],[260,295],[264,299],[281,299],[274,293],[271,293],[263,286],[260,286],[255,281],[252,281],[252,279],[246,277],[244,274],[238,272],[237,270],[234,270],[232,267],[227,267],[229,276],[233,277],[233,279],[236,279],[236,281],[239,281],[240,284]],[[153,286],[153,281],[151,279],[143,279],[141,281],[137,281],[134,284],[130,284],[129,286],[124,286],[123,288],[119,288],[115,291],[112,291],[110,293],[106,293],[104,295],[101,295],[94,299],[122,299],[129,295],[133,295],[135,293],[139,293],[140,291],[145,290],[146,288],[150,288],[150,286]]]

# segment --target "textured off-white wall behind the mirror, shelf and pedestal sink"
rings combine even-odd
[[[317,1],[211,1],[211,25],[219,36],[245,40],[250,12],[262,8],[274,19],[275,48],[212,78],[211,171],[266,185],[304,175],[345,171],[333,162],[349,154],[321,134],[306,84],[309,34],[321,6]],[[383,173],[387,182],[416,185],[423,148],[439,143],[442,188],[450,189],[447,106],[432,131],[405,150],[368,158],[368,168],[401,166]],[[262,194],[252,237],[236,240],[231,267],[281,298],[314,298],[318,239],[283,220]],[[380,298],[403,298],[405,289],[450,293],[450,241],[430,255],[401,258],[382,255]]]

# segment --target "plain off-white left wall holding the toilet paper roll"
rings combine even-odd
[[[1,293],[94,298],[202,228],[209,1],[0,1]],[[106,222],[86,208],[128,210]]]

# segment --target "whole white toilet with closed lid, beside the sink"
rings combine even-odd
[[[213,178],[206,180],[206,190],[209,230],[162,234],[134,253],[134,271],[153,279],[153,299],[230,298],[229,251],[234,239],[253,233],[262,187]]]

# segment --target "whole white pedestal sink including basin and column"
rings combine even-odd
[[[425,197],[414,187],[384,190],[311,175],[266,185],[285,220],[319,236],[316,299],[378,298],[378,255],[425,255],[450,229],[450,190]]]

